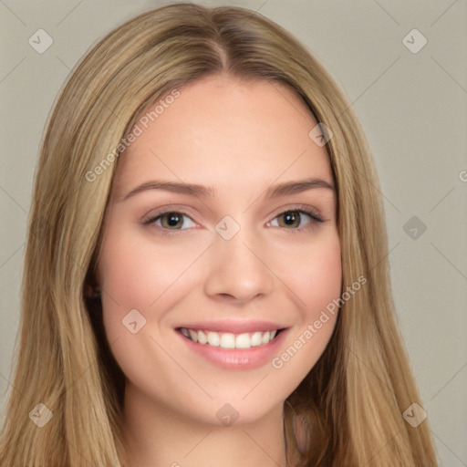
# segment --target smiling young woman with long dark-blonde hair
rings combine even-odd
[[[119,26],[43,141],[0,463],[437,465],[383,215],[348,101],[282,28]]]

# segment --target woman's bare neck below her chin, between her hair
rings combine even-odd
[[[125,394],[126,467],[287,467],[283,404],[260,420],[214,425],[161,406],[130,385]]]

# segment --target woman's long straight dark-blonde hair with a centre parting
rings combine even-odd
[[[420,399],[396,324],[378,177],[351,105],[282,27],[242,8],[188,4],[148,11],[109,33],[78,64],[49,117],[0,464],[121,465],[124,376],[99,301],[86,293],[99,260],[111,162],[150,103],[217,73],[285,85],[332,130],[327,153],[337,187],[342,290],[367,280],[341,304],[326,350],[286,400],[291,458],[306,466],[436,466],[428,420],[412,428],[402,417]],[[53,413],[43,428],[28,417],[39,402]],[[296,420],[311,427],[308,450],[296,445]]]

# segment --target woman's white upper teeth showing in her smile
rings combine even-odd
[[[274,339],[277,330],[265,332],[253,332],[244,334],[233,334],[231,332],[196,331],[182,327],[184,336],[200,344],[220,348],[252,348],[265,345]]]

